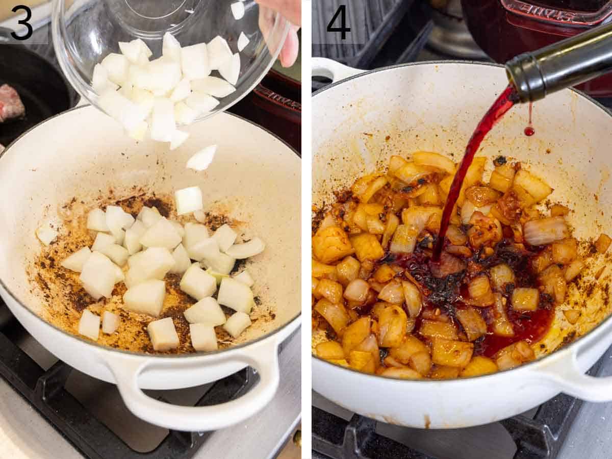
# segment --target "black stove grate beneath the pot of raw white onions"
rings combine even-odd
[[[0,375],[88,459],[190,459],[211,432],[171,430],[151,452],[136,452],[88,412],[65,388],[72,367],[58,361],[45,371],[21,350],[13,337],[27,334],[0,304]],[[239,397],[258,378],[251,368],[212,384],[196,406],[217,405]],[[160,400],[164,401],[163,398]]]

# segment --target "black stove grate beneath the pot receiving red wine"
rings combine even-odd
[[[599,373],[608,353],[589,375]],[[519,415],[500,421],[517,445],[513,459],[556,459],[582,404],[559,394],[540,405],[533,418]],[[312,446],[313,459],[438,459],[380,435],[373,419],[354,414],[347,422],[315,406]]]

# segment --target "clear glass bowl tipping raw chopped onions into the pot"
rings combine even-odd
[[[237,0],[234,0],[237,1]],[[162,54],[162,38],[171,32],[181,46],[210,42],[217,35],[237,52],[241,32],[248,45],[240,52],[236,91],[220,99],[215,110],[196,121],[234,105],[266,75],[276,60],[289,29],[277,12],[253,0],[243,2],[244,17],[234,19],[233,1],[222,0],[53,0],[53,46],[67,80],[92,105],[99,95],[91,85],[94,65],[109,53],[120,53],[119,42],[140,38],[153,56]],[[212,75],[218,76],[217,71]]]

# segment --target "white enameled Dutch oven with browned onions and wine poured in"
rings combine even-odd
[[[313,75],[337,81],[313,96],[315,204],[329,203],[333,190],[386,166],[392,154],[435,151],[458,162],[477,122],[508,84],[503,67],[490,64],[420,62],[364,73],[327,59],[314,61]],[[533,111],[534,136],[523,134],[528,106],[515,106],[485,138],[479,155],[507,155],[542,176],[554,188],[551,201],[575,209],[569,222],[578,238],[610,234],[610,113],[569,89],[535,103]],[[584,375],[612,345],[610,267],[594,278],[609,262],[604,256],[592,260],[583,287],[569,289],[550,331],[534,343],[539,358],[530,364],[476,378],[408,381],[313,357],[313,389],[364,416],[428,428],[487,424],[559,392],[611,401],[612,378]],[[575,325],[562,314],[567,308],[582,312]]]

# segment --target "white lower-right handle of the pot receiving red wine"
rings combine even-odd
[[[578,350],[569,356],[558,356],[551,365],[538,372],[539,376],[556,384],[562,392],[586,401],[612,401],[612,376],[591,376],[584,374],[578,364]],[[550,358],[550,357],[549,357]]]

